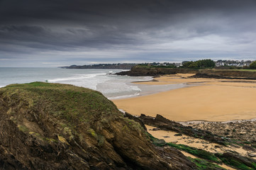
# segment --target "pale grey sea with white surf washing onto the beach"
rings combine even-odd
[[[133,81],[151,81],[153,78],[115,75],[122,71],[127,70],[0,67],[0,87],[33,81],[72,84],[100,91],[108,99],[119,99],[145,96],[187,86],[187,84],[133,84]]]

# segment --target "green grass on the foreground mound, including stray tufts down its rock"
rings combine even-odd
[[[119,118],[121,115],[113,102],[100,92],[67,84],[11,84],[0,89],[0,96],[6,98],[13,111],[25,108],[38,121],[55,122],[69,138],[79,133],[76,131],[79,125],[101,129],[103,123],[94,125],[95,122],[104,118]],[[18,114],[13,112],[12,117],[19,118]],[[21,123],[20,130],[28,132],[22,120],[17,119],[16,122]],[[99,145],[102,145],[104,138],[97,135]]]

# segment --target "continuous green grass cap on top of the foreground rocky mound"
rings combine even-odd
[[[45,113],[72,124],[87,123],[100,114],[118,113],[116,106],[98,91],[77,86],[33,82],[9,85],[1,91],[7,89],[7,96],[25,98],[30,108],[45,106]]]

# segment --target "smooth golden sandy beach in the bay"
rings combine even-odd
[[[256,118],[256,81],[196,79],[191,74],[155,78],[136,84],[193,84],[182,89],[113,100],[118,108],[133,115],[160,114],[169,120],[228,121]]]

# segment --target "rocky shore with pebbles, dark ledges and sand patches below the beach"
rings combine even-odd
[[[126,113],[125,116],[131,118],[132,115]],[[167,135],[162,136],[162,140],[155,140],[153,142],[155,145],[176,147],[183,152],[192,154],[193,157],[206,159],[210,162],[214,158],[215,161],[213,162],[218,164],[222,162],[233,169],[255,169],[255,120],[227,123],[201,121],[182,123],[183,125],[167,120],[161,115],[157,115],[155,118],[140,115],[134,117],[133,120],[155,127],[148,129],[148,132],[153,134],[157,134],[157,131],[163,132],[163,130],[168,132]],[[170,137],[169,132],[174,132],[172,135],[177,137],[176,141],[165,142]],[[181,141],[185,145],[180,145],[179,142]],[[194,144],[201,144],[201,147],[189,147]]]

